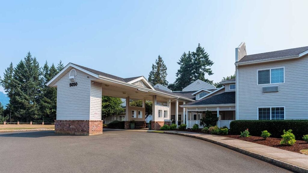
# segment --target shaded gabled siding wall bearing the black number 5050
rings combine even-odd
[[[77,70],[77,86],[69,86],[69,71],[56,83],[57,86],[57,119],[89,120],[90,118],[90,84],[94,77]],[[89,78],[88,78],[89,77]]]

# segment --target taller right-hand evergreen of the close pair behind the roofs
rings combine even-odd
[[[193,54],[193,81],[200,79],[202,81],[213,83],[208,79],[205,79],[205,74],[212,75],[211,67],[214,62],[209,59],[209,54],[205,52],[204,48],[201,47],[200,43]]]

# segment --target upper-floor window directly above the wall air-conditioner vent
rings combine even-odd
[[[273,68],[266,70],[258,70],[258,85],[283,83],[284,82],[284,67]]]

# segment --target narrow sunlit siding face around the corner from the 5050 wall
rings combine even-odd
[[[102,84],[94,82],[91,83],[91,106],[90,106],[90,120],[101,120],[102,110]],[[95,111],[97,113],[95,117]]]

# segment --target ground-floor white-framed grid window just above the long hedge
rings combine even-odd
[[[285,119],[285,107],[258,107],[258,119]]]

